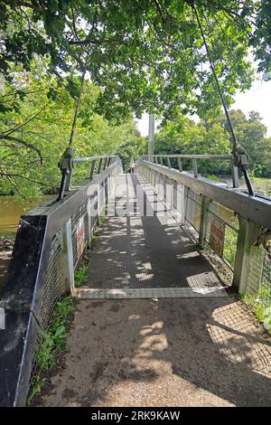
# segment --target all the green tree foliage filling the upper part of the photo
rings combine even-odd
[[[201,152],[212,131],[207,148],[228,152],[199,22],[229,106],[255,72],[270,78],[270,15],[265,0],[0,0],[0,193],[57,187],[85,71],[76,155],[120,153],[128,164],[145,150],[133,123],[143,111],[162,119],[169,151],[183,141],[183,116],[197,113],[204,126],[189,128],[187,151]],[[238,128],[238,137],[255,158],[253,171],[268,176],[257,156],[259,144],[270,146],[266,129],[245,120],[249,131]],[[182,131],[174,139],[173,126]]]

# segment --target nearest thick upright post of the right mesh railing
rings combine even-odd
[[[254,243],[261,232],[262,227],[260,224],[251,222],[244,217],[239,217],[238,243],[232,283],[233,287],[238,290],[239,294],[246,292],[249,261],[251,260],[252,251],[259,249],[254,247]]]

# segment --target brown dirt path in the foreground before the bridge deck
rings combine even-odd
[[[42,406],[270,406],[271,341],[234,297],[81,300]]]

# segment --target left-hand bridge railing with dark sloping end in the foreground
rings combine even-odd
[[[98,163],[98,174],[90,170],[91,178],[76,184],[63,199],[42,203],[19,222],[0,304],[5,308],[5,331],[0,333],[1,406],[25,404],[40,335],[57,301],[73,290],[74,271],[104,214],[115,177],[122,173],[120,159],[113,158],[110,162],[108,157],[86,158],[92,165]]]

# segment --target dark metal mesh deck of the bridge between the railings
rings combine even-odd
[[[115,216],[107,218],[95,242],[89,261],[89,281],[82,288],[82,297],[108,295],[107,291],[86,291],[88,288],[189,289],[175,291],[176,297],[191,297],[193,288],[198,289],[196,296],[214,292],[206,289],[223,288],[173,212],[165,212],[164,203],[141,175],[118,176],[116,197],[116,203],[108,204],[109,214],[113,212]],[[138,202],[139,198],[144,202]],[[154,214],[149,215],[152,211]],[[119,213],[123,216],[117,216]],[[144,296],[144,291],[137,292]],[[223,292],[219,293],[223,296]],[[126,290],[125,294],[133,297],[136,292]]]

